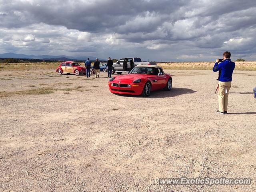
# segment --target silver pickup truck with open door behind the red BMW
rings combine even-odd
[[[141,59],[138,57],[121,58],[113,63],[112,74],[130,71],[137,65],[156,65],[156,62],[141,62]]]

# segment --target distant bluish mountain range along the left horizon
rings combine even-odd
[[[41,59],[41,60],[87,60],[87,58],[90,58],[90,60],[96,60],[96,57],[94,56],[84,56],[84,57],[72,57],[72,56],[66,56],[66,55],[58,55],[58,56],[52,56],[52,55],[25,55],[25,54],[16,54],[16,53],[4,53],[0,54],[0,58],[17,58],[17,59]],[[106,59],[98,58],[101,61],[104,61]]]

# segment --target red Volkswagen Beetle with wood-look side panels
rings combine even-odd
[[[56,72],[58,72],[58,74],[74,73],[79,75],[80,73],[86,73],[86,69],[85,67],[80,66],[78,62],[65,61],[62,62],[58,68],[56,68]]]

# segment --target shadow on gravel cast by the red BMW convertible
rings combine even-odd
[[[196,91],[188,88],[177,88],[174,87],[170,91],[165,90],[157,90],[150,93],[150,96],[148,98],[165,98],[165,97],[175,97],[183,94],[191,94],[195,93]],[[126,94],[117,94],[124,97],[142,97],[141,95],[126,95]]]

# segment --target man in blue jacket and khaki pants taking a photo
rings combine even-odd
[[[235,63],[230,60],[231,53],[225,51],[223,53],[223,60],[216,59],[213,71],[220,71],[218,78],[218,100],[219,100],[219,114],[228,114],[228,92],[231,87],[232,74],[235,68]]]

